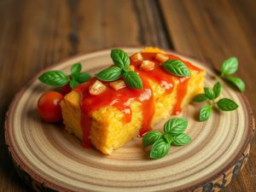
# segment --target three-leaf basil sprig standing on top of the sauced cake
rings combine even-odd
[[[112,49],[111,58],[114,66],[96,73],[96,78],[102,81],[114,81],[121,77],[124,78],[125,84],[133,89],[143,89],[143,81],[140,76],[131,71],[130,58],[122,49]]]

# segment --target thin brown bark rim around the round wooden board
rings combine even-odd
[[[114,48],[117,48],[117,47],[114,47]],[[142,49],[142,47],[137,47],[137,46],[132,46],[132,47],[124,47],[124,46],[120,46],[118,47],[120,49]],[[90,53],[95,53],[95,52],[101,52],[101,51],[105,51],[105,50],[108,50],[108,49],[113,49],[113,47],[110,47],[110,48],[105,48],[105,49],[97,49],[97,50],[93,50],[93,51],[89,51],[89,52],[83,52],[83,53],[79,53],[77,55],[73,55],[73,56],[70,56],[70,57],[67,57],[66,59],[64,60],[61,60],[59,62],[56,62],[55,64],[49,66],[49,67],[46,67],[44,68],[44,70],[38,72],[29,82],[27,82],[23,88],[21,88],[21,90],[15,95],[13,101],[11,102],[10,106],[9,106],[9,109],[8,109],[8,112],[6,113],[6,119],[5,119],[5,141],[6,141],[6,144],[7,144],[7,148],[9,149],[9,154],[10,156],[12,157],[12,159],[14,160],[14,163],[15,163],[15,166],[20,166],[20,169],[22,171],[25,171],[27,172],[33,180],[35,180],[37,183],[44,183],[44,185],[49,188],[49,189],[55,189],[55,190],[60,190],[60,191],[69,191],[67,189],[63,189],[61,188],[60,186],[58,185],[55,185],[54,183],[50,183],[49,181],[47,180],[44,180],[44,178],[41,178],[39,177],[37,174],[35,174],[35,172],[33,172],[31,169],[29,169],[28,167],[26,167],[24,165],[24,163],[22,163],[22,161],[19,159],[19,157],[17,157],[17,155],[15,154],[15,152],[12,150],[11,148],[11,143],[9,142],[9,135],[8,135],[8,129],[9,129],[9,114],[12,110],[14,110],[15,108],[15,103],[19,100],[19,96],[21,96],[24,91],[26,90],[26,87],[28,87],[30,84],[32,84],[35,80],[38,79],[38,75],[40,73],[43,73],[44,71],[48,71],[49,69],[55,67],[55,66],[58,66],[60,65],[61,63],[63,63],[64,61],[69,61],[69,60],[72,60],[76,57],[79,57],[79,56],[82,56],[82,55],[88,55]],[[209,68],[212,68],[215,72],[218,71],[216,68],[212,67],[212,65],[210,65],[209,63],[207,62],[202,62],[202,61],[199,61],[197,59],[195,59],[194,57],[191,57],[189,55],[184,55],[184,54],[180,54],[178,53],[177,51],[174,51],[174,50],[171,50],[171,49],[166,49],[167,52],[170,52],[170,53],[174,53],[176,55],[183,55],[185,57],[188,57],[189,59],[193,60],[193,61],[197,61]],[[212,177],[208,177],[207,179],[199,182],[199,183],[196,183],[194,186],[191,186],[187,189],[183,189],[181,191],[190,191],[190,190],[194,190],[196,189],[198,186],[201,186],[202,184],[204,183],[209,183],[211,182],[212,180],[216,179],[217,177],[219,177],[223,172],[227,172],[229,171],[235,164],[236,164],[236,161],[237,160],[240,160],[241,157],[243,156],[243,153],[245,152],[245,150],[247,149],[247,146],[250,144],[252,144],[252,139],[253,139],[253,132],[254,132],[254,118],[253,118],[253,110],[249,104],[249,102],[247,101],[247,97],[243,94],[243,93],[240,93],[240,92],[236,92],[237,94],[239,94],[241,96],[241,100],[245,103],[246,107],[247,107],[247,112],[248,112],[248,134],[247,134],[247,139],[246,139],[246,143],[244,143],[243,147],[241,148],[240,152],[236,155],[236,157],[234,158],[234,160],[232,160],[230,162],[230,165],[224,167],[223,170],[220,170],[218,173],[216,173],[215,175],[213,175]]]

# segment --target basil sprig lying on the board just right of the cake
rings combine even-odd
[[[214,84],[213,88],[205,88],[204,93],[198,94],[194,97],[194,102],[210,102],[200,109],[199,120],[205,121],[211,117],[212,108],[217,105],[217,108],[221,111],[232,111],[238,108],[236,102],[231,99],[223,98],[219,99],[218,102],[215,100],[220,96],[222,86],[219,82]]]

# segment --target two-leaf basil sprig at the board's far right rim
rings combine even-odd
[[[245,90],[245,84],[243,82],[242,79],[240,78],[236,78],[233,76],[230,76],[233,73],[236,73],[238,69],[238,60],[236,57],[230,57],[229,59],[227,59],[226,61],[223,62],[220,70],[221,70],[221,74],[220,76],[230,82],[231,84],[234,84],[238,90],[240,90],[241,92],[243,92]]]

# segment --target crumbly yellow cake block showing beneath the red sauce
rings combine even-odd
[[[160,52],[160,49],[144,49],[143,52]],[[161,55],[160,55],[161,56]],[[170,76],[173,80],[172,92],[166,93],[166,87],[159,84],[154,79],[148,78],[152,93],[154,95],[154,116],[151,120],[151,126],[157,124],[162,119],[167,119],[170,114],[177,111],[177,102],[180,101],[179,108],[184,108],[192,98],[201,93],[203,90],[203,79],[205,72],[197,67],[189,67],[191,77],[187,80],[185,95],[182,100],[179,96],[183,91],[181,78]],[[154,73],[152,70],[150,73]],[[147,77],[147,75],[146,75]],[[121,83],[121,81],[117,82]],[[147,97],[147,96],[146,96]],[[61,102],[62,116],[66,130],[73,133],[80,140],[83,140],[83,128],[81,126],[81,94],[78,91],[72,90]],[[123,146],[132,138],[137,137],[138,132],[142,129],[143,118],[143,102],[141,100],[131,101],[131,121],[125,122],[125,113],[115,108],[112,105],[102,106],[90,113],[90,142],[103,154],[111,154],[114,149]]]

